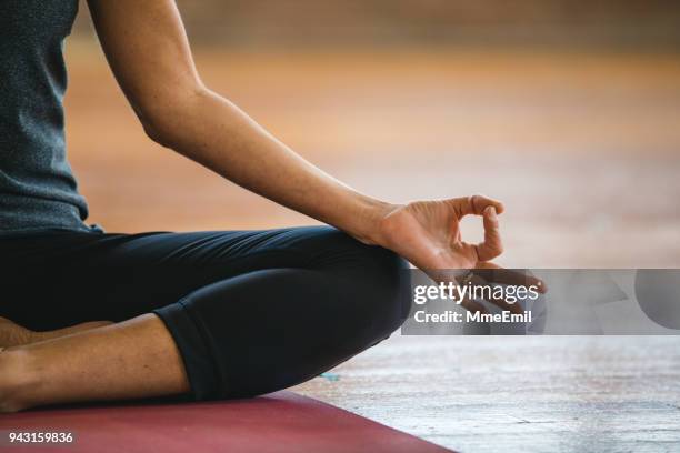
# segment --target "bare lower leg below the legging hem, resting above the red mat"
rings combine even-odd
[[[190,390],[172,335],[151,313],[49,341],[0,348],[0,412]]]

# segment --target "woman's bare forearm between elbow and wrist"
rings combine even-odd
[[[160,143],[279,204],[377,243],[377,223],[392,209],[347,187],[281,143],[230,101],[197,90],[150,135]],[[158,115],[157,115],[158,117]]]

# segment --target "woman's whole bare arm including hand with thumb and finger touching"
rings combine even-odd
[[[203,85],[172,0],[89,0],[109,64],[144,130],[226,179],[386,246],[423,269],[476,268],[502,251],[500,202],[483,197],[390,204],[361,194],[273,138]],[[486,240],[462,242],[459,220],[484,217]]]

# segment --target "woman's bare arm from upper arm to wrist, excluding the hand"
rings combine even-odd
[[[90,0],[109,63],[154,141],[280,204],[371,242],[388,203],[313,167],[201,82],[171,0]]]

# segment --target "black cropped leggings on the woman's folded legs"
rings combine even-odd
[[[191,397],[252,396],[311,379],[408,314],[406,262],[329,226],[0,235],[0,315],[32,330],[158,314]]]

